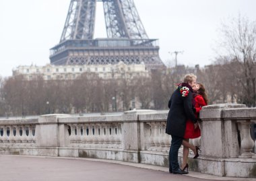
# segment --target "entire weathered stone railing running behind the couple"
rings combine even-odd
[[[112,116],[43,115],[37,119],[0,120],[0,153],[91,157],[168,166],[168,111],[133,110]],[[256,109],[240,104],[205,106],[200,112],[198,159],[189,168],[218,176],[256,177],[255,143],[250,125]],[[182,161],[182,148],[179,161]]]

